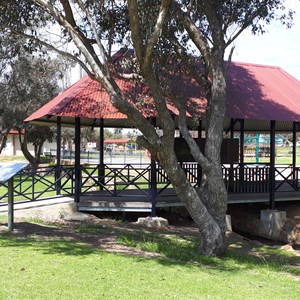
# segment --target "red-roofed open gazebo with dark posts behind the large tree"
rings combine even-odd
[[[121,58],[116,56],[116,61]],[[149,97],[147,89],[141,90],[131,82],[117,79],[116,83],[123,91],[128,91],[132,98],[138,97],[141,93]],[[183,84],[181,88],[187,90],[190,106],[196,112],[194,115],[198,119],[197,140],[201,147],[204,143],[202,136],[206,126],[205,115],[203,115],[206,99],[192,83],[186,86]],[[142,111],[145,117],[155,122],[156,111],[151,106],[150,97],[149,103],[146,102]],[[176,118],[177,111],[171,103],[169,109]],[[180,205],[176,195],[170,194],[170,183],[166,174],[154,160],[142,168],[132,165],[113,168],[104,164],[103,129],[105,127],[132,128],[133,124],[110,104],[108,94],[101,85],[88,76],[81,78],[25,121],[57,126],[57,178],[59,180],[63,173],[60,159],[61,126],[75,127],[74,197],[79,210],[126,210],[125,199],[136,199],[135,205],[128,210],[150,210],[152,215],[155,214],[156,206],[159,204]],[[296,166],[296,132],[299,129],[299,122],[300,82],[298,80],[278,67],[228,63],[224,133],[230,138],[224,139],[223,174],[228,188],[229,203],[263,202],[269,203],[270,207],[274,208],[275,201],[295,200],[295,196],[300,195],[298,182],[300,169]],[[100,163],[94,166],[97,175],[96,171],[87,172],[84,166],[80,165],[81,126],[100,127]],[[293,132],[292,164],[288,167],[275,165],[276,131]],[[239,143],[234,137],[235,132],[240,135]],[[245,163],[243,142],[245,132],[270,134],[269,163],[263,165]],[[184,141],[179,139],[176,143],[182,145]],[[199,184],[201,179],[199,166],[190,159],[181,160],[180,163],[186,169],[191,182],[195,185]],[[85,188],[86,178],[93,181],[98,188],[97,193],[88,194],[89,188]],[[94,196],[97,194],[93,200],[90,198],[87,201],[82,200],[85,199],[84,197],[91,197],[92,194]],[[142,202],[150,204],[144,206]]]

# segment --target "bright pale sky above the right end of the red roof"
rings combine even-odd
[[[259,36],[247,30],[234,42],[233,61],[277,66],[300,80],[300,1],[286,3],[296,12],[294,26],[287,29],[275,22]]]

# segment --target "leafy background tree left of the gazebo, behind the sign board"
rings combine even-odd
[[[0,79],[1,150],[11,129],[18,130],[21,150],[30,163],[40,161],[41,149],[46,140],[52,140],[53,130],[48,127],[29,126],[23,120],[59,91],[61,64],[49,58],[28,56],[24,49],[6,62]],[[28,151],[32,143],[35,155]]]

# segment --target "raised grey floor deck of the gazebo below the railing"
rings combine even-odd
[[[168,191],[172,191],[169,189]],[[128,211],[150,212],[151,201],[144,195],[134,191],[124,191],[122,196],[107,196],[106,193],[97,192],[82,195],[77,204],[78,211]],[[269,203],[269,193],[228,194],[228,204],[243,203]],[[277,192],[275,202],[300,201],[300,192]],[[183,203],[174,193],[156,198],[156,208],[182,207]]]

